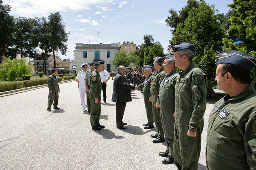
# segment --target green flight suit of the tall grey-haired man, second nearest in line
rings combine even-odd
[[[206,75],[192,62],[175,86],[174,163],[180,170],[198,169],[206,91]],[[196,131],[196,137],[189,137],[188,129]]]

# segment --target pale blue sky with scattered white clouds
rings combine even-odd
[[[232,0],[205,0],[215,5],[218,13],[226,14]],[[61,59],[72,59],[76,43],[84,44],[123,44],[143,43],[144,35],[153,35],[167,53],[172,38],[170,27],[165,19],[169,10],[177,12],[187,4],[187,0],[3,0],[11,6],[10,15],[33,18],[46,17],[60,12],[68,35],[68,52]],[[99,40],[100,39],[100,40]],[[39,51],[42,52],[42,51]]]

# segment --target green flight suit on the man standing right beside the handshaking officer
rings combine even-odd
[[[164,139],[164,131],[162,127],[162,121],[160,116],[160,108],[156,108],[156,100],[159,95],[159,87],[161,81],[164,79],[166,72],[164,68],[161,68],[158,73],[156,73],[152,86],[151,86],[151,98],[152,98],[152,108],[153,108],[153,118],[157,127],[157,133],[159,139]]]

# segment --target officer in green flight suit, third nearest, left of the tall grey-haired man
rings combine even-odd
[[[159,156],[166,157],[163,164],[171,164],[174,161],[173,141],[174,141],[174,111],[175,111],[175,84],[179,75],[175,67],[174,56],[164,57],[163,63],[166,77],[160,84],[160,91],[156,107],[160,106],[162,127],[164,129],[164,140],[166,141],[166,151],[160,152]]]

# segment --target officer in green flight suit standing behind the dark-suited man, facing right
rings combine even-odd
[[[100,100],[101,100],[101,81],[100,72],[104,70],[104,61],[100,60],[95,63],[95,70],[90,76],[90,122],[92,129],[101,130],[104,125],[100,125]]]

